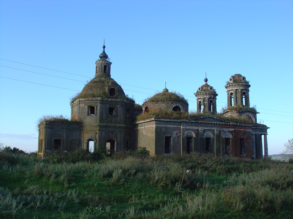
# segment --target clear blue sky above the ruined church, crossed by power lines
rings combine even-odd
[[[138,104],[166,81],[196,110],[207,72],[219,112],[225,82],[242,74],[270,127],[269,154],[293,138],[293,1],[0,0],[0,142],[37,150],[36,121],[70,117],[70,97],[94,77],[103,39],[112,78]]]

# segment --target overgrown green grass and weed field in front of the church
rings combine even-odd
[[[0,218],[293,218],[293,164],[0,152]]]

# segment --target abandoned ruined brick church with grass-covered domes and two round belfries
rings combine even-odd
[[[188,114],[188,102],[164,88],[139,106],[111,78],[111,64],[104,45],[96,61],[95,77],[70,103],[71,120],[81,124],[40,124],[39,157],[53,150],[84,148],[94,152],[98,147],[106,147],[110,153],[146,147],[152,156],[200,152],[250,159],[268,157],[268,127],[256,122],[258,112],[249,107],[250,84],[241,74],[231,76],[226,83],[228,107],[221,114],[217,114],[218,94],[205,78],[205,84],[195,93],[197,112],[201,114],[188,119],[153,117],[134,122],[135,114],[155,109]],[[235,117],[247,117],[251,122],[229,119]]]

